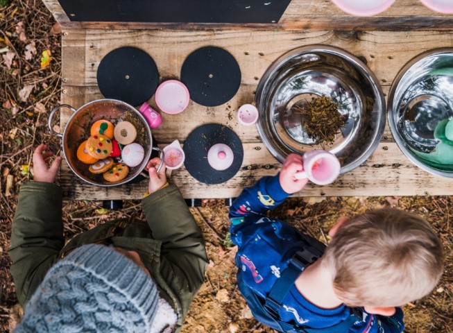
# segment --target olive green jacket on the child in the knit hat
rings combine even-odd
[[[194,216],[175,185],[142,199],[147,223],[112,221],[65,245],[62,191],[46,182],[27,182],[19,192],[9,255],[17,298],[26,306],[49,268],[84,244],[112,244],[139,253],[164,298],[178,314],[177,330],[203,284],[207,255]]]

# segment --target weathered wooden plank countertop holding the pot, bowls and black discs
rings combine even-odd
[[[393,78],[411,58],[429,49],[453,46],[453,31],[149,31],[63,27],[61,101],[80,108],[89,101],[102,99],[96,84],[99,62],[108,52],[121,46],[135,46],[146,51],[155,60],[161,80],[179,78],[185,58],[199,47],[226,49],[241,68],[241,86],[236,96],[214,108],[191,101],[185,112],[176,115],[162,113],[162,125],[153,130],[153,135],[165,146],[174,139],[183,143],[194,128],[204,123],[222,123],[232,128],[241,138],[244,148],[243,164],[234,178],[220,185],[205,185],[182,167],[173,171],[171,181],[178,185],[185,198],[236,197],[243,187],[253,185],[262,176],[273,175],[280,169],[280,163],[262,144],[257,128],[241,126],[235,118],[236,111],[240,105],[253,102],[259,79],[275,59],[291,49],[309,44],[338,46],[360,56],[366,60],[387,94]],[[150,103],[155,107],[153,99]],[[69,110],[62,109],[61,131],[70,115]],[[65,198],[77,200],[137,199],[142,198],[147,189],[146,180],[108,189],[93,187],[79,180],[66,164],[62,167],[60,184]],[[453,179],[431,175],[413,165],[395,144],[387,127],[375,153],[361,166],[339,176],[330,186],[307,185],[298,195],[447,195],[452,194],[452,188]]]

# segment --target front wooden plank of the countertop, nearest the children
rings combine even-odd
[[[243,187],[253,185],[262,176],[275,175],[281,164],[263,144],[243,144],[244,160],[234,178],[220,185],[205,185],[194,180],[182,167],[172,171],[171,181],[185,198],[234,198]],[[147,180],[114,188],[85,185],[76,178],[66,162],[60,173],[64,196],[71,200],[139,199],[147,191]],[[450,195],[453,180],[422,171],[404,155],[394,142],[381,143],[360,167],[339,176],[332,185],[319,187],[309,183],[296,196],[424,196]]]

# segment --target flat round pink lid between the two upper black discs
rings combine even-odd
[[[155,92],[155,103],[165,113],[178,114],[187,108],[189,101],[189,90],[178,80],[164,81]]]

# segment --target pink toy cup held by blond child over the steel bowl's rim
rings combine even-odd
[[[294,178],[308,178],[316,185],[327,185],[339,176],[340,161],[328,151],[309,151],[302,156],[304,171],[296,173]]]

